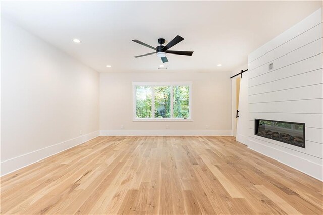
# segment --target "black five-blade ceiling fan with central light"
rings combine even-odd
[[[160,44],[157,47],[152,47],[150,45],[147,45],[146,43],[143,43],[139,40],[132,40],[136,43],[139,43],[140,45],[144,45],[148,48],[154,49],[155,52],[151,52],[151,53],[147,53],[144,55],[138,55],[138,56],[134,56],[134,58],[139,58],[139,57],[143,57],[143,56],[147,56],[147,55],[152,55],[154,53],[157,54],[157,57],[161,58],[161,61],[163,61],[163,63],[168,62],[167,58],[166,58],[166,54],[170,53],[170,54],[174,54],[174,55],[188,55],[188,56],[192,56],[194,51],[169,51],[168,49],[173,47],[174,45],[176,45],[177,43],[183,41],[184,38],[181,36],[176,36],[174,39],[172,39],[172,41],[170,41],[169,43],[167,43],[167,45],[163,45],[165,43],[165,39],[160,38],[158,39],[158,43]]]

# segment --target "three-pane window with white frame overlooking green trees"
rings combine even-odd
[[[192,82],[133,82],[134,121],[191,121]]]

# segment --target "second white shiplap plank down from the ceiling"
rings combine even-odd
[[[253,70],[263,64],[274,61],[277,58],[280,58],[286,55],[289,52],[296,50],[304,45],[307,45],[317,39],[320,39],[322,36],[322,23],[316,25],[315,27],[309,29],[303,34],[295,37],[294,39],[284,43],[283,45],[275,48],[274,50],[266,53],[265,55],[258,58],[256,61],[249,63],[249,69]]]

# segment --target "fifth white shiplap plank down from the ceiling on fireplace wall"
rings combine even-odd
[[[281,79],[249,88],[249,95],[287,90],[291,88],[304,87],[321,84],[323,82],[323,69],[314,70],[308,73],[292,76],[288,79]],[[286,98],[287,99],[287,98]]]

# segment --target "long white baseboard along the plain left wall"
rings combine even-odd
[[[95,137],[99,136],[99,131],[94,131],[55,145],[48,146],[36,151],[29,152],[27,154],[20,155],[8,160],[1,162],[1,176],[11,173],[13,171],[19,170],[23,167],[31,165],[38,162],[44,158],[52,156],[54,154],[60,153],[66,149],[72,148],[76,145],[80,145],[86,141],[89,141]]]

